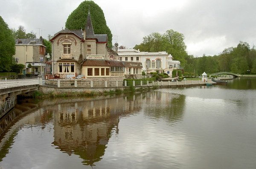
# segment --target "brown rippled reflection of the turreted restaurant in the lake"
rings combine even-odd
[[[118,130],[119,116],[141,109],[142,95],[58,104],[54,113],[54,142],[68,155],[79,155],[84,165],[101,160],[108,140]]]

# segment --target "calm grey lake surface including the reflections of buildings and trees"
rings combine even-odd
[[[0,137],[1,169],[256,168],[256,78],[26,101]]]

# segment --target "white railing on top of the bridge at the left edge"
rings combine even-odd
[[[40,79],[12,79],[12,80],[0,80],[0,89],[19,87],[19,86],[29,86],[29,85],[39,85]]]

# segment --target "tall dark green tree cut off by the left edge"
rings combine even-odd
[[[15,40],[12,30],[0,16],[0,72],[9,71],[15,54]]]

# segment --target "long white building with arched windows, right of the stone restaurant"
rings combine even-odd
[[[142,71],[146,74],[151,72],[164,72],[172,77],[172,70],[180,69],[180,61],[172,60],[173,57],[167,52],[140,52],[135,49],[118,49],[120,61],[141,62]]]

